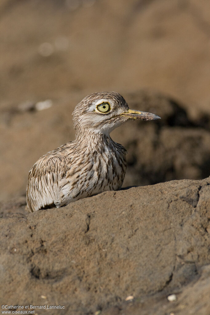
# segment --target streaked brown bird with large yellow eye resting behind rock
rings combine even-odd
[[[126,171],[126,149],[110,132],[128,120],[160,117],[132,110],[117,92],[87,95],[72,113],[75,140],[38,159],[29,171],[29,212],[60,208],[81,198],[119,190]]]

